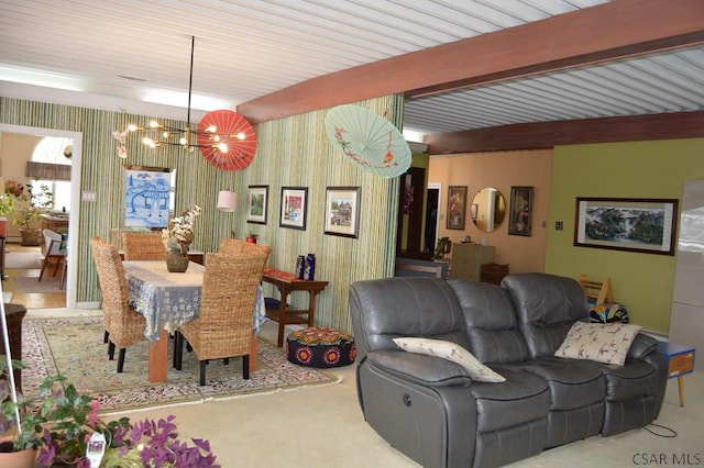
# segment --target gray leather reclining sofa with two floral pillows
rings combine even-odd
[[[366,422],[426,467],[495,467],[653,421],[667,385],[657,341],[638,334],[624,366],[554,357],[588,322],[579,282],[519,274],[502,286],[386,278],[350,286],[356,386]],[[457,343],[506,378],[488,383],[395,337]]]

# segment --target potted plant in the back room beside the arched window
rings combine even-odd
[[[54,193],[50,187],[46,183],[24,186],[8,179],[4,182],[4,193],[12,198],[12,224],[20,226],[22,245],[40,245],[40,230],[35,222],[52,208]]]

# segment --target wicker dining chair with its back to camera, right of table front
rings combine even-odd
[[[176,368],[182,369],[184,338],[200,365],[200,385],[211,359],[242,357],[242,376],[250,378],[252,313],[271,248],[258,245],[241,254],[206,254],[198,317],[176,333]]]

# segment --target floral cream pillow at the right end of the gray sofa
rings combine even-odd
[[[554,355],[623,366],[639,331],[639,325],[625,323],[575,322]]]

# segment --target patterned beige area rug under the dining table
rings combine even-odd
[[[61,374],[77,390],[100,401],[102,411],[124,411],[166,406],[204,400],[233,398],[257,392],[280,391],[333,383],[336,376],[290,364],[280,348],[258,339],[257,370],[242,378],[241,358],[221,359],[208,365],[205,386],[198,385],[198,361],[184,349],[183,370],[170,366],[166,383],[150,383],[147,343],[127,350],[124,371],[117,372],[117,360],[108,360],[108,346],[102,343],[101,316],[68,319],[31,319],[22,323],[22,389],[30,402],[36,402],[38,388],[46,376]],[[173,341],[169,341],[173,342]],[[117,359],[117,353],[116,353]]]

